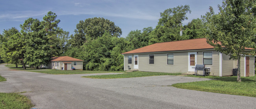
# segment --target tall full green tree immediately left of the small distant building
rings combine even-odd
[[[30,66],[36,66],[37,69],[43,64],[48,65],[52,56],[51,46],[42,22],[29,18],[20,27],[26,39],[24,62]]]

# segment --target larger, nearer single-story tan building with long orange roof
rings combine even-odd
[[[204,64],[210,75],[221,77],[233,75],[237,68],[237,60],[215,51],[205,38],[155,43],[122,55],[124,70],[193,73],[196,64]],[[240,65],[241,76],[254,76],[254,56],[242,55]]]

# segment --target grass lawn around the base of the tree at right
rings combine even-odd
[[[256,76],[241,77],[242,82],[237,82],[236,76],[233,77],[217,77],[217,76],[195,76],[189,77],[209,78],[215,80],[188,82],[173,84],[173,87],[182,89],[191,89],[197,91],[207,91],[213,93],[224,93],[230,95],[241,95],[256,97]]]

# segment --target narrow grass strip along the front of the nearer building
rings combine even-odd
[[[133,71],[117,75],[95,75],[95,76],[83,76],[85,78],[92,79],[117,79],[117,78],[132,78],[132,77],[148,77],[148,76],[159,76],[159,75],[180,75],[181,73],[157,73],[157,72],[143,72]]]

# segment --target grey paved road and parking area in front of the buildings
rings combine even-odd
[[[255,97],[178,89],[168,85],[208,80],[180,76],[88,79],[107,73],[50,75],[0,65],[0,92],[23,92],[37,109],[256,109]]]

